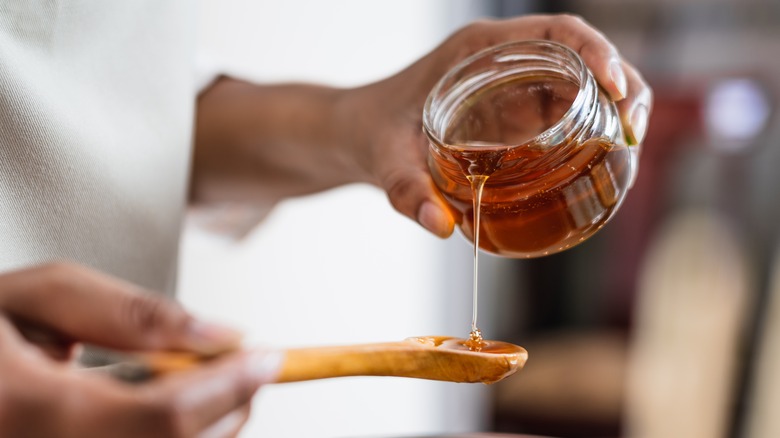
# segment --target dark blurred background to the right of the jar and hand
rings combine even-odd
[[[530,359],[495,389],[495,430],[780,436],[780,2],[490,10],[582,16],[655,93],[639,176],[613,221],[570,251],[516,261],[524,317],[501,331]]]

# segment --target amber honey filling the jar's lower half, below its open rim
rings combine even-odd
[[[502,169],[501,174],[490,174],[479,206],[480,248],[509,257],[538,257],[570,248],[604,225],[631,178],[631,151],[603,139],[571,147],[575,150],[570,159],[534,169],[542,175],[531,181],[502,176],[521,167],[523,159]],[[475,237],[475,211],[464,168],[476,164],[495,172],[496,165],[490,161],[495,155],[503,158],[506,154],[506,150],[486,148],[433,155],[434,181],[459,213],[459,226],[471,240]]]

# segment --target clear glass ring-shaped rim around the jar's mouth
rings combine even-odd
[[[443,135],[436,135],[436,134],[442,134],[441,132],[437,132],[437,130],[434,128],[434,115],[432,114],[432,108],[434,104],[436,103],[437,96],[441,94],[442,89],[447,86],[449,82],[451,82],[455,77],[457,77],[459,74],[463,72],[466,68],[468,68],[470,65],[474,64],[480,59],[484,59],[487,57],[495,57],[497,55],[503,53],[502,58],[506,56],[526,56],[527,59],[543,59],[539,58],[540,54],[535,53],[532,54],[529,49],[531,48],[543,48],[546,50],[549,50],[550,53],[558,53],[560,55],[563,55],[565,57],[565,60],[570,62],[572,66],[575,69],[575,72],[578,73],[577,79],[577,96],[575,96],[574,100],[572,101],[569,108],[566,110],[566,112],[561,116],[559,120],[557,120],[554,124],[547,127],[544,131],[541,133],[535,135],[532,138],[529,138],[525,140],[522,143],[518,144],[509,144],[504,145],[501,147],[501,149],[512,149],[516,147],[521,147],[529,144],[543,144],[546,140],[558,136],[561,131],[563,131],[566,126],[568,125],[569,121],[572,120],[577,116],[577,114],[580,113],[582,106],[585,104],[585,100],[588,99],[588,90],[587,87],[589,86],[589,76],[590,76],[590,70],[588,70],[588,67],[585,65],[585,62],[582,60],[580,55],[572,50],[571,48],[549,40],[516,40],[516,41],[510,41],[502,44],[498,44],[495,46],[490,46],[485,49],[482,49],[469,57],[461,60],[457,64],[455,64],[454,67],[452,67],[439,81],[434,85],[434,87],[431,89],[430,93],[428,93],[428,97],[425,100],[425,105],[423,107],[423,130],[425,131],[426,135],[436,141],[437,144],[443,146],[443,147],[455,147],[457,146],[459,149],[479,149],[480,146],[476,145],[468,145],[468,144],[458,144],[458,145],[450,145],[447,144],[443,138]],[[592,79],[591,79],[592,81]]]

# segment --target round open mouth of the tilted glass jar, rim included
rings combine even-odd
[[[548,41],[483,50],[458,64],[426,101],[431,141],[458,149],[548,149],[577,130],[595,88],[582,59]]]

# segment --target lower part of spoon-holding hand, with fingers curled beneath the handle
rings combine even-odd
[[[236,353],[175,378],[128,386],[64,365],[36,363],[24,357],[32,349],[23,342],[23,348],[5,354],[6,341],[13,347],[15,338],[20,339],[0,318],[0,370],[7,377],[0,383],[14,401],[3,405],[10,416],[4,420],[10,421],[0,422],[0,430],[13,431],[9,436],[91,437],[111,431],[117,438],[194,437],[211,428],[229,434],[243,424],[252,394],[275,378],[281,362],[259,352]]]

